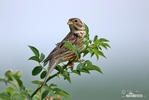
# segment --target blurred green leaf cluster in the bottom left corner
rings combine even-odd
[[[31,100],[30,89],[27,89],[22,80],[21,71],[14,73],[11,70],[5,72],[5,77],[0,78],[0,82],[4,82],[6,85],[9,85],[5,91],[0,93],[1,100]]]

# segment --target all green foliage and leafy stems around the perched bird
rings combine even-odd
[[[103,48],[108,49],[110,45],[107,43],[109,40],[104,38],[98,38],[95,36],[93,40],[89,39],[89,29],[86,25],[86,41],[83,42],[86,45],[86,48],[79,52],[76,46],[71,43],[65,41],[65,46],[72,50],[78,59],[73,59],[66,64],[57,65],[55,70],[57,71],[53,75],[48,77],[48,80],[51,80],[57,76],[62,76],[64,80],[67,80],[71,83],[71,74],[81,75],[81,73],[89,74],[91,71],[97,71],[102,73],[101,69],[92,64],[90,60],[82,59],[83,57],[90,54],[91,57],[96,56],[97,60],[99,57],[105,57],[103,53]],[[35,66],[32,70],[32,75],[40,75],[41,79],[44,79],[47,73],[46,66],[48,66],[48,62],[42,63],[45,59],[45,55],[40,53],[39,50],[33,46],[29,46],[31,51],[34,53],[34,56],[30,57],[29,60],[37,62],[37,66]],[[80,60],[81,58],[81,60]],[[76,66],[73,65],[76,64]],[[69,65],[73,65],[73,67],[68,67]],[[33,80],[32,83],[37,85],[37,89],[32,91],[32,89],[28,89],[24,86],[23,81],[20,79],[22,76],[21,71],[13,72],[8,70],[5,73],[4,78],[0,78],[0,82],[4,82],[7,85],[5,91],[0,93],[1,100],[61,100],[61,97],[69,98],[69,93],[58,88],[56,83],[46,84],[44,87],[41,87],[43,83],[42,80]]]

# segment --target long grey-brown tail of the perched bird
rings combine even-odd
[[[49,74],[52,72],[52,70],[55,68],[56,65],[57,65],[57,63],[54,60],[49,61],[48,71],[46,73],[45,79],[44,79],[41,87],[46,84]]]

